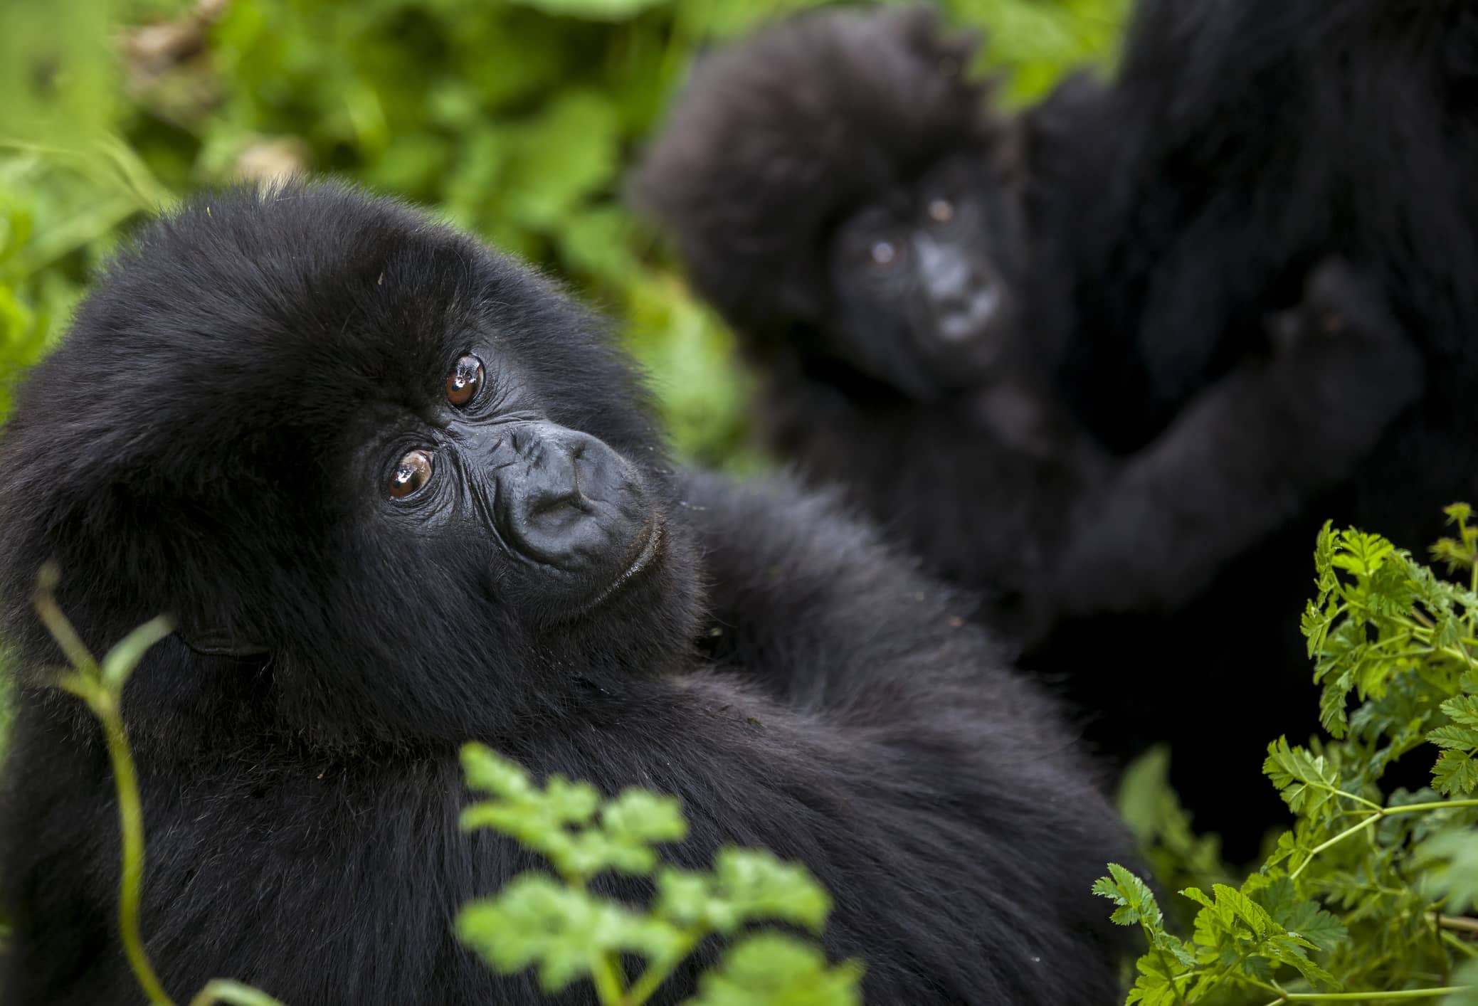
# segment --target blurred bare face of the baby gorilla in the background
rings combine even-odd
[[[853,213],[829,253],[832,338],[927,397],[1002,365],[1017,332],[1023,225],[984,158],[953,157]]]

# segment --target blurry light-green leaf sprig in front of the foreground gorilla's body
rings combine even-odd
[[[655,845],[678,842],[687,823],[675,799],[628,789],[613,799],[562,776],[535,786],[514,762],[482,745],[463,749],[467,784],[491,799],[463,812],[463,827],[489,827],[548,860],[457,917],[457,935],[500,974],[534,968],[548,993],[590,979],[605,1006],[640,1006],[699,944],[774,920],[819,934],[831,898],[798,866],[769,852],[726,848],[709,872],[662,866]],[[649,877],[643,911],[591,891],[600,875]],[[625,960],[644,960],[628,979]],[[740,937],[693,1003],[857,1003],[856,963],[831,966],[807,942],[774,932]]]

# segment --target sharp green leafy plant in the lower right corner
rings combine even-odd
[[[1478,530],[1466,505],[1447,514],[1456,536],[1432,555],[1466,585],[1379,535],[1320,532],[1302,626],[1333,740],[1268,745],[1262,771],[1293,829],[1240,885],[1179,889],[1197,906],[1190,940],[1110,864],[1094,891],[1148,944],[1128,1003],[1478,1000],[1478,919],[1465,914],[1478,903]],[[1431,789],[1385,792],[1403,756],[1432,767]],[[1135,786],[1125,804],[1142,811],[1156,781]],[[1179,841],[1178,869],[1185,849],[1209,866]]]

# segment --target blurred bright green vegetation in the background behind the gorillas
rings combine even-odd
[[[331,171],[435,207],[624,322],[686,459],[751,470],[732,340],[621,204],[692,58],[817,0],[12,0],[0,415],[120,235],[200,186]],[[1125,0],[947,0],[1030,99]]]

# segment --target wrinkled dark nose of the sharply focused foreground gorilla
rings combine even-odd
[[[640,479],[593,436],[550,422],[510,431],[516,461],[497,470],[498,517],[508,544],[569,570],[600,569],[641,524]]]

